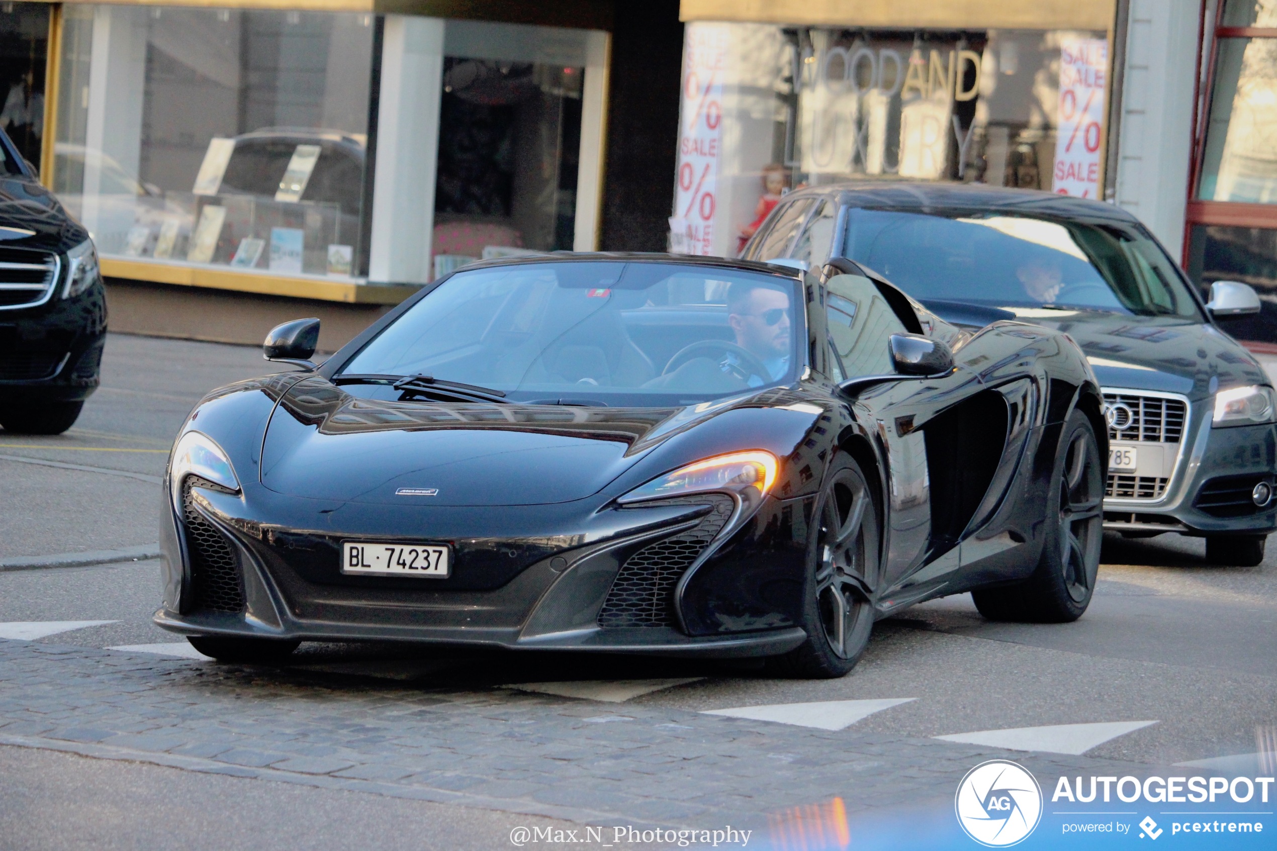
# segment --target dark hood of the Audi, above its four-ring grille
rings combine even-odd
[[[1020,322],[1073,337],[1103,387],[1183,393],[1197,401],[1221,387],[1271,383],[1254,356],[1213,325],[1088,310],[1009,310]]]

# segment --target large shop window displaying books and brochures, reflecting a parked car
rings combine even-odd
[[[365,273],[372,15],[64,15],[54,189],[102,255]]]

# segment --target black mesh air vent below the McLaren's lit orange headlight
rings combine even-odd
[[[695,528],[651,544],[626,559],[599,611],[599,626],[673,626],[674,586],[727,526],[736,508],[736,500],[727,494],[670,499],[664,504],[713,505],[714,510]]]

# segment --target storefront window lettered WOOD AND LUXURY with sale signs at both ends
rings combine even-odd
[[[691,23],[673,250],[737,254],[789,188],[945,180],[1099,196],[1103,32]]]

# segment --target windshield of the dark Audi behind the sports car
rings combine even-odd
[[[1174,263],[1135,228],[992,213],[848,212],[847,256],[919,301],[1203,322]]]

